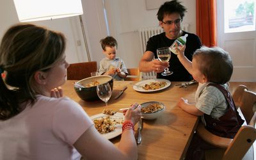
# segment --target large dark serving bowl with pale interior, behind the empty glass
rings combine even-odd
[[[81,99],[85,101],[99,100],[97,95],[97,85],[99,84],[93,85],[93,82],[99,84],[109,83],[111,90],[113,90],[113,78],[111,76],[102,75],[84,78],[74,84],[74,89]]]

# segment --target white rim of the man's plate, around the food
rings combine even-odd
[[[145,84],[149,84],[151,82],[161,82],[161,81],[164,81],[166,82],[166,86],[162,87],[162,88],[159,88],[157,90],[144,90],[142,88],[142,86],[145,86]],[[171,85],[171,82],[168,81],[167,79],[147,79],[147,80],[144,80],[144,81],[140,81],[138,83],[136,83],[134,86],[133,86],[133,89],[138,91],[138,92],[156,92],[156,91],[159,91],[159,90],[164,90],[165,88],[167,88],[168,86]],[[141,87],[140,87],[141,86]]]

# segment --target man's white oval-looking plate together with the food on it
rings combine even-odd
[[[171,85],[167,79],[147,79],[134,84],[133,89],[138,92],[156,92]]]

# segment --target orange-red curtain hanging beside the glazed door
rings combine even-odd
[[[207,47],[216,42],[216,0],[196,0],[196,34]]]

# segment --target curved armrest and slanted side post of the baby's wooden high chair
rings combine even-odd
[[[256,139],[255,120],[256,113],[253,115],[250,125],[242,126],[234,139],[216,136],[207,131],[204,124],[200,123],[196,129],[198,135],[211,145],[219,147],[205,150],[205,159],[252,159],[253,142]]]

